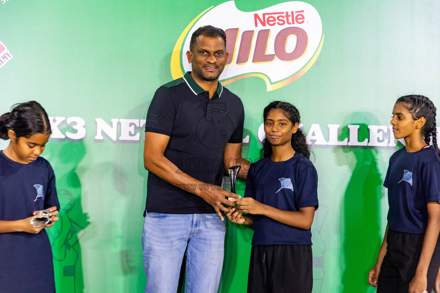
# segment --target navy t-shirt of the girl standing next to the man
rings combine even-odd
[[[271,157],[249,167],[245,197],[279,210],[299,211],[306,206],[318,208],[318,174],[312,162],[301,153],[282,162]],[[263,215],[254,215],[252,245],[312,245],[310,229],[282,224]]]

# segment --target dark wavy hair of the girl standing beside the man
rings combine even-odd
[[[300,112],[298,109],[290,103],[282,101],[273,101],[264,108],[263,119],[266,120],[268,113],[271,110],[280,109],[284,115],[292,122],[292,124],[300,123]],[[298,128],[297,132],[292,134],[292,140],[290,141],[292,148],[295,152],[303,154],[307,159],[310,159],[310,145],[307,144],[307,140],[304,131]],[[263,140],[263,148],[261,149],[260,156],[266,158],[272,155],[272,146],[266,139]]]

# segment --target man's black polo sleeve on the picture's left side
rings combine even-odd
[[[171,136],[176,116],[176,105],[167,87],[159,87],[148,107],[145,132]]]

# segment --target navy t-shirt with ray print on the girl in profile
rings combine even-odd
[[[428,225],[426,203],[440,203],[440,159],[429,146],[418,152],[401,148],[389,159],[384,186],[388,188],[388,227],[423,234]]]

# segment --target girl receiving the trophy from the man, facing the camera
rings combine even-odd
[[[247,292],[310,293],[318,175],[298,129],[298,109],[274,101],[263,117],[263,158],[249,167],[239,210],[227,213],[230,221],[254,229]]]

